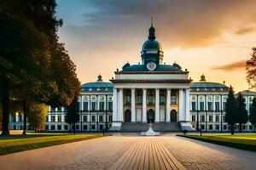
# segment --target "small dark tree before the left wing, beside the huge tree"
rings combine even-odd
[[[73,124],[73,133],[76,133],[76,123],[79,122],[79,101],[78,99],[73,99],[71,105],[67,106],[67,116],[66,120],[67,123],[70,125]]]

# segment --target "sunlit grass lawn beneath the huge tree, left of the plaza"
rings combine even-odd
[[[22,150],[32,150],[55,144],[66,144],[80,140],[96,139],[102,134],[61,134],[61,133],[27,133],[26,136],[0,136],[0,156]]]

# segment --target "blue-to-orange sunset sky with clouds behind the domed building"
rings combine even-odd
[[[64,21],[61,42],[77,65],[80,82],[113,77],[140,50],[154,18],[164,62],[174,61],[199,81],[226,82],[247,89],[245,61],[256,46],[255,0],[57,0]]]

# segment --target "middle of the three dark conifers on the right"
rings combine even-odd
[[[236,98],[236,116],[239,123],[239,132],[241,133],[241,125],[248,121],[245,99],[242,97],[241,92],[238,93]]]

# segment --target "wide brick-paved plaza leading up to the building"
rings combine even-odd
[[[166,133],[116,133],[0,156],[0,169],[255,169],[256,154]]]

